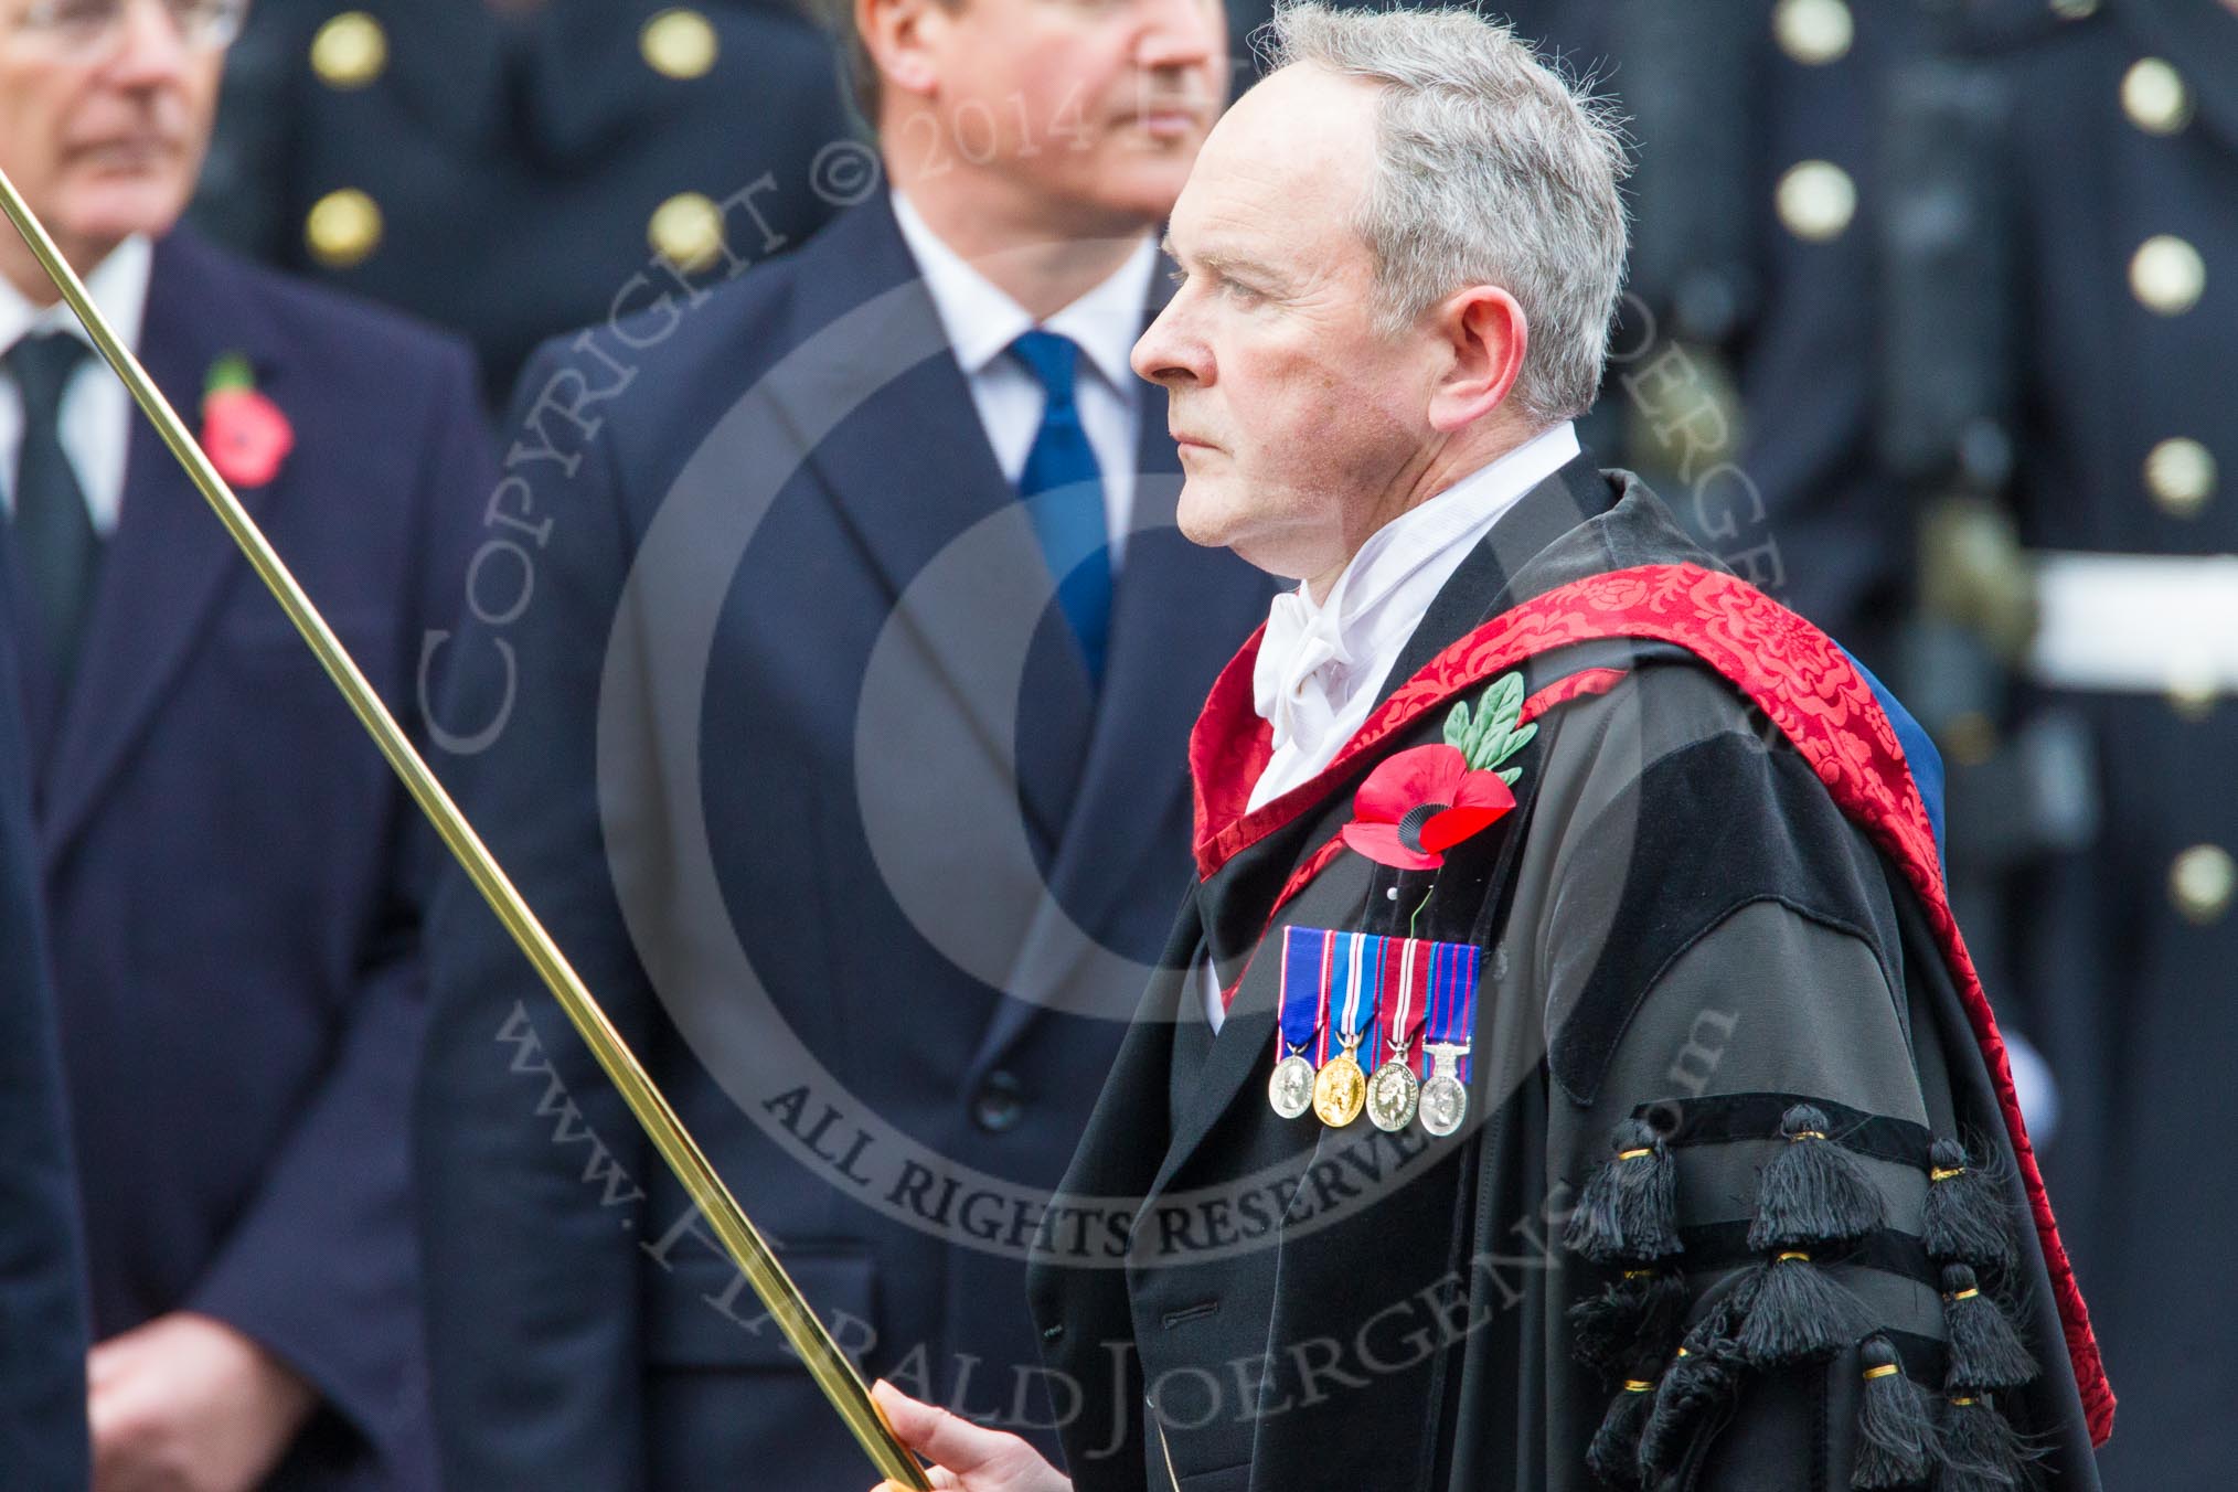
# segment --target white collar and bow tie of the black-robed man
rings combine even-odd
[[[1560,423],[1482,465],[1419,508],[1367,535],[1318,606],[1305,586],[1273,597],[1253,705],[1273,725],[1273,756],[1251,785],[1251,808],[1314,781],[1374,714],[1383,676],[1399,662],[1430,602],[1484,535],[1522,497],[1578,456],[1578,429]],[[1220,1031],[1220,978],[1204,962],[1204,1016]]]

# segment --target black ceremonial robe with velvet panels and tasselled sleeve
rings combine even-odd
[[[1636,481],[1573,461],[1461,564],[1385,698],[1513,604],[1647,564],[1714,561]],[[1777,673],[1804,655],[1781,646],[1808,633],[1788,624],[1728,642]],[[1439,740],[1444,709],[1238,821],[1220,808],[1240,792],[1220,790],[1215,693],[1193,745],[1200,870],[1211,866],[1029,1279],[1050,1367],[1076,1387],[1065,1429],[1076,1485],[1585,1490],[1600,1485],[1589,1445],[1611,1405],[1614,1438],[1638,1438],[1623,1405],[1638,1394],[1643,1414],[1652,1405],[1667,1420],[1645,1472],[1658,1485],[1846,1488],[1864,1369],[1878,1364],[1862,1358],[1878,1351],[1871,1338],[1891,1344],[1929,1414],[1945,1387],[1985,1411],[1960,1391],[1981,1371],[1972,1347],[1947,1349],[1958,1306],[1940,1293],[1965,1284],[1927,1226],[1934,1136],[1963,1136],[1974,1172],[1999,1177],[1985,1215],[2014,1264],[1996,1273],[1994,1309],[2041,1362],[2025,1382],[2012,1362],[1994,1373],[2010,1380],[1994,1414],[2037,1436],[2059,1485],[2095,1485],[2077,1385],[2099,1420],[2110,1398],[2079,1302],[2066,1300],[2072,1282],[2057,1284],[2057,1239],[2025,1221],[1987,1047],[1922,904],[1788,738],[1692,653],[1564,651],[1549,633],[1524,689],[1582,691],[1544,709],[1511,758],[1517,810],[1448,850],[1435,881],[1338,852],[1276,901],[1352,814],[1361,772]],[[1582,671],[1596,671],[1591,684]],[[1484,957],[1470,1123],[1435,1139],[1419,1125],[1280,1118],[1267,1098],[1276,935],[1405,935],[1426,890],[1417,935]],[[1206,948],[1233,986],[1217,1036],[1200,1013]],[[1784,1139],[1804,1103],[1831,1139]],[[1643,1123],[1627,1132],[1627,1118]],[[1750,1244],[1750,1224],[1777,1206],[1759,1172],[1813,1143],[1853,1161],[1875,1217],[1846,1241],[1797,1244],[1806,1259],[1777,1259]],[[1607,1194],[1623,1165],[1672,1168],[1676,1257],[1632,1257],[1580,1230],[1578,1217],[1605,1219],[1593,1188]],[[1625,1271],[1676,1279],[1683,1315],[1618,1333],[1602,1367],[1587,1367],[1569,1311]],[[1831,1291],[1797,1309],[1790,1286],[1806,1284]],[[2066,1322],[2054,1295],[2077,1311]],[[2077,1326],[2084,1367],[2070,1371],[2063,1331]],[[1797,1331],[1817,1335],[1817,1351],[1779,1347]],[[1703,1362],[1714,1382],[1685,1382]],[[1627,1445],[1614,1465],[1618,1485],[1643,1474]]]

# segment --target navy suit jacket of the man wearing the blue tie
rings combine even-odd
[[[1063,1170],[1188,881],[1188,723],[1269,586],[1170,526],[1144,389],[1094,700],[884,199],[548,349],[517,405],[506,506],[548,528],[528,611],[459,644],[463,801],[841,1342],[1045,1423],[1016,1208]],[[432,946],[450,1483],[864,1483],[459,881]]]

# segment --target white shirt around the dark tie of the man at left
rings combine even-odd
[[[85,289],[101,306],[101,313],[123,338],[123,344],[139,351],[141,327],[148,320],[148,273],[154,266],[154,246],[145,237],[128,237],[110,257],[85,277]],[[69,306],[34,306],[22,291],[0,275],[0,356],[9,353],[27,336],[67,331],[87,347],[85,327],[69,313]],[[125,503],[125,452],[132,441],[132,396],[125,385],[92,356],[72,374],[63,389],[63,452],[78,472],[78,488],[85,492],[85,508],[94,514],[94,530],[103,537],[116,532],[116,514]],[[0,374],[0,503],[9,517],[16,514],[16,456],[22,450],[22,389],[7,374]]]

